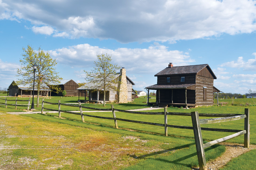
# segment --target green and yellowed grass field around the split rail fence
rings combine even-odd
[[[49,102],[57,103],[58,100],[60,99],[56,97]],[[142,103],[144,100],[140,97],[135,99],[134,103],[114,104],[114,107],[119,109],[144,108],[146,107],[145,103]],[[69,101],[75,101],[75,97],[61,98],[61,103],[73,103]],[[102,105],[84,105],[103,108]],[[55,107],[54,105],[48,106]],[[65,110],[76,109],[75,107],[72,109],[66,106],[61,107]],[[110,104],[107,104],[106,108],[110,108]],[[168,112],[198,111],[199,113],[241,114],[244,108],[250,109],[250,143],[255,144],[256,107],[254,106],[168,108]],[[15,110],[0,107],[0,148],[2,147],[0,157],[4,158],[0,159],[0,169],[3,167],[7,169],[191,169],[198,165],[193,130],[168,128],[168,137],[165,137],[164,127],[159,126],[118,121],[119,129],[115,129],[113,120],[85,117],[85,123],[83,123],[81,116],[68,113],[61,113],[60,119],[56,117],[58,113],[6,114],[10,111]],[[163,109],[152,110],[152,112],[160,111]],[[86,114],[113,117],[112,112]],[[164,122],[163,115],[116,112],[116,116],[131,120]],[[168,116],[168,124],[191,126],[191,117]],[[243,130],[243,120],[202,125],[202,127]],[[205,142],[230,134],[232,133],[202,131]],[[243,143],[243,135],[228,142]],[[222,145],[207,148],[206,159],[215,159],[224,151],[225,147]],[[243,160],[254,154],[253,150],[246,156],[240,156],[239,159]],[[247,169],[255,167],[253,160],[251,162]],[[231,161],[230,165],[228,164],[225,168],[232,169],[234,166],[235,163],[232,164]]]

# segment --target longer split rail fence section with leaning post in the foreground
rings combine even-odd
[[[45,108],[44,105],[43,105],[44,103],[58,105],[58,110]],[[63,111],[63,110],[61,110],[61,105],[71,106],[71,107],[79,107],[80,113],[71,112],[71,111]],[[102,117],[102,116],[94,116],[94,115],[83,114],[82,108],[98,110],[98,111],[112,111],[113,117]],[[164,112],[134,112],[134,111],[115,109],[114,105],[111,105],[111,109],[101,109],[101,108],[91,108],[91,107],[82,106],[80,102],[78,103],[78,105],[64,104],[64,103],[60,103],[60,100],[58,101],[58,103],[50,103],[50,102],[46,102],[46,101],[43,100],[42,101],[42,111],[41,111],[41,113],[43,113],[43,109],[46,109],[46,110],[49,110],[49,111],[57,111],[59,113],[59,118],[61,118],[61,112],[81,115],[81,118],[82,118],[83,122],[85,122],[84,116],[114,120],[115,128],[117,128],[117,129],[118,129],[118,124],[117,124],[118,120],[119,121],[139,123],[139,124],[146,124],[146,125],[164,126],[165,127],[165,136],[168,136],[167,127],[179,128],[179,129],[191,129],[191,130],[193,129],[194,137],[195,137],[195,144],[196,144],[196,148],[197,148],[197,157],[198,157],[198,163],[199,163],[199,170],[207,170],[205,152],[204,152],[205,148],[210,147],[210,146],[215,145],[215,144],[218,144],[218,143],[221,143],[221,142],[226,141],[228,139],[238,137],[238,136],[243,135],[243,134],[245,135],[244,136],[244,146],[248,148],[249,143],[250,143],[249,109],[245,109],[245,114],[216,114],[216,113],[212,113],[212,114],[207,113],[207,114],[205,114],[205,113],[198,113],[198,112],[191,112],[191,113],[167,112],[167,107],[164,108]],[[115,115],[115,111],[125,112],[125,113],[133,113],[133,114],[164,115],[164,124],[117,118],[116,115]],[[167,124],[167,115],[171,115],[171,116],[191,116],[193,126],[168,125]],[[199,116],[218,117],[218,118],[199,119]],[[244,120],[244,130],[201,128],[201,126],[200,126],[202,124],[211,124],[211,123],[234,121],[234,120],[240,120],[240,119],[243,119],[243,118],[245,119]],[[201,130],[218,131],[218,132],[233,132],[235,134],[232,134],[232,135],[229,135],[229,136],[226,136],[226,137],[223,137],[223,138],[220,138],[220,139],[217,139],[217,140],[214,140],[214,141],[203,144]]]

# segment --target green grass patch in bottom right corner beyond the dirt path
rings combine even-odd
[[[225,167],[220,170],[254,170],[256,165],[256,150],[251,150],[237,158],[233,158],[230,162],[226,164]]]

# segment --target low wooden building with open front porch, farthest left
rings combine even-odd
[[[9,96],[17,97],[31,97],[33,96],[33,88],[27,87],[26,85],[17,85],[15,81],[11,83],[8,87]],[[51,90],[49,89],[40,89],[40,96],[51,95]],[[34,96],[37,96],[37,88],[34,89]]]

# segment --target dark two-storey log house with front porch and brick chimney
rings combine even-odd
[[[168,67],[155,74],[157,84],[146,87],[156,90],[158,106],[209,106],[213,105],[213,93],[220,92],[213,86],[217,79],[208,64]]]

